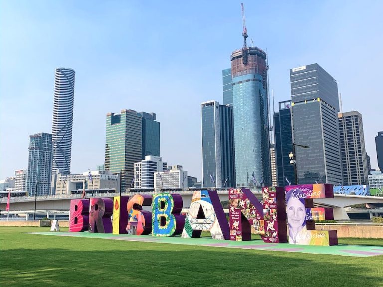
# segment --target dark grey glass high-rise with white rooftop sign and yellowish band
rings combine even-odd
[[[298,182],[339,185],[343,179],[337,81],[311,64],[291,69],[290,84]]]

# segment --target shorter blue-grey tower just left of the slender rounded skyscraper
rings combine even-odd
[[[48,195],[52,171],[52,135],[38,133],[30,136],[27,195]]]

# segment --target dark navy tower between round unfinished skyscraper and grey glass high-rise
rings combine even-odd
[[[274,113],[274,138],[277,186],[289,185],[288,182],[295,185],[294,166],[290,164],[289,157],[293,151],[291,100],[279,102],[279,112]]]

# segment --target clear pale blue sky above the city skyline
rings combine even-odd
[[[70,67],[72,173],[104,163],[106,114],[133,109],[157,114],[163,160],[201,180],[200,103],[223,102],[222,69],[243,45],[240,3],[0,0],[0,179],[27,168],[29,135],[51,133],[54,69]],[[362,114],[376,168],[383,1],[244,5],[248,42],[268,50],[275,103],[291,99],[290,68],[318,63],[338,81],[343,111]]]

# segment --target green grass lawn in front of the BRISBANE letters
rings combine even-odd
[[[57,237],[0,227],[0,286],[383,286],[383,256]],[[63,229],[64,231],[67,229]],[[340,239],[383,245],[383,240]]]

